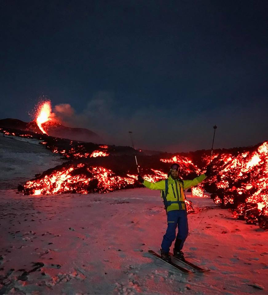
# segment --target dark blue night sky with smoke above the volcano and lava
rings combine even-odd
[[[161,151],[268,140],[268,1],[1,1],[0,119]]]

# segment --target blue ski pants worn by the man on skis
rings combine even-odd
[[[178,234],[176,237],[176,228]],[[168,212],[168,228],[163,236],[161,248],[164,252],[169,252],[172,242],[176,239],[181,240],[179,250],[182,250],[183,244],[188,235],[188,221],[186,210],[172,210]]]

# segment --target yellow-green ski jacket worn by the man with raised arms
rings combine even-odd
[[[185,195],[184,190],[189,187],[194,187],[201,181],[203,181],[207,176],[202,174],[192,180],[182,180],[182,179],[173,179],[171,175],[168,177],[168,194],[166,196],[167,201],[175,202],[181,201],[181,209],[185,210]],[[144,180],[142,183],[145,187],[148,187],[151,190],[161,190],[165,192],[166,180],[160,180],[158,182],[152,183],[147,180]],[[179,203],[172,203],[168,206],[167,212],[172,210],[180,210]]]

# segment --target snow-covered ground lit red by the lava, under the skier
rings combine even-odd
[[[31,159],[55,161],[28,148],[26,179],[42,172]],[[7,173],[2,188],[13,183]],[[196,212],[184,253],[211,269],[205,273],[183,274],[148,253],[159,250],[167,225],[158,191],[33,197],[0,190],[0,294],[268,294],[268,232],[210,198],[187,198]]]

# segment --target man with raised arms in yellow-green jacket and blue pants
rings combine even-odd
[[[182,180],[179,178],[179,164],[173,163],[168,172],[168,178],[160,180],[156,183],[144,180],[138,175],[138,181],[145,187],[151,190],[161,190],[162,198],[164,199],[165,209],[168,215],[168,228],[163,236],[161,244],[161,257],[167,262],[171,261],[169,250],[172,242],[175,240],[173,254],[176,258],[184,260],[182,252],[183,244],[188,235],[187,211],[185,204],[184,190],[189,187],[194,187],[207,176],[211,175],[211,166],[207,166],[207,171],[192,180]],[[176,237],[176,227],[178,227],[178,234]]]

